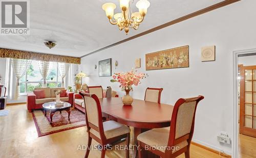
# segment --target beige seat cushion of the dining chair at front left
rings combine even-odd
[[[118,137],[124,134],[130,133],[130,128],[115,121],[103,122],[103,129],[106,139]],[[98,131],[93,128],[90,129],[90,133],[100,138]]]

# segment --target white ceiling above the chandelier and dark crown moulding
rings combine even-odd
[[[148,0],[147,15],[137,31],[129,35],[109,23],[101,6],[106,2],[117,5],[118,0],[40,0],[30,1],[30,35],[0,36],[0,47],[48,54],[81,57],[125,38],[152,29],[189,13],[209,7],[223,0]],[[131,1],[133,2],[133,1]],[[134,0],[133,11],[137,8]],[[49,49],[45,40],[56,41]]]

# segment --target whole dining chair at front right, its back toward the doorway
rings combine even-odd
[[[185,153],[189,158],[190,143],[194,133],[197,104],[204,96],[180,98],[174,106],[170,127],[155,128],[140,134],[139,157],[148,149],[161,157],[177,157]]]

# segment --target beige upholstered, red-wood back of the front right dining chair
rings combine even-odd
[[[170,123],[169,146],[189,145],[194,133],[197,104],[203,96],[180,98],[174,106]]]

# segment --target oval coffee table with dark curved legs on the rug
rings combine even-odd
[[[44,104],[42,104],[42,108],[45,111],[45,116],[46,116],[46,112],[49,111],[50,112],[50,118],[51,118],[51,124],[52,124],[52,116],[59,111],[61,114],[61,111],[65,110],[68,112],[69,117],[68,119],[70,120],[70,107],[71,104],[69,102],[56,102],[56,101],[52,101],[52,102],[46,102]]]

